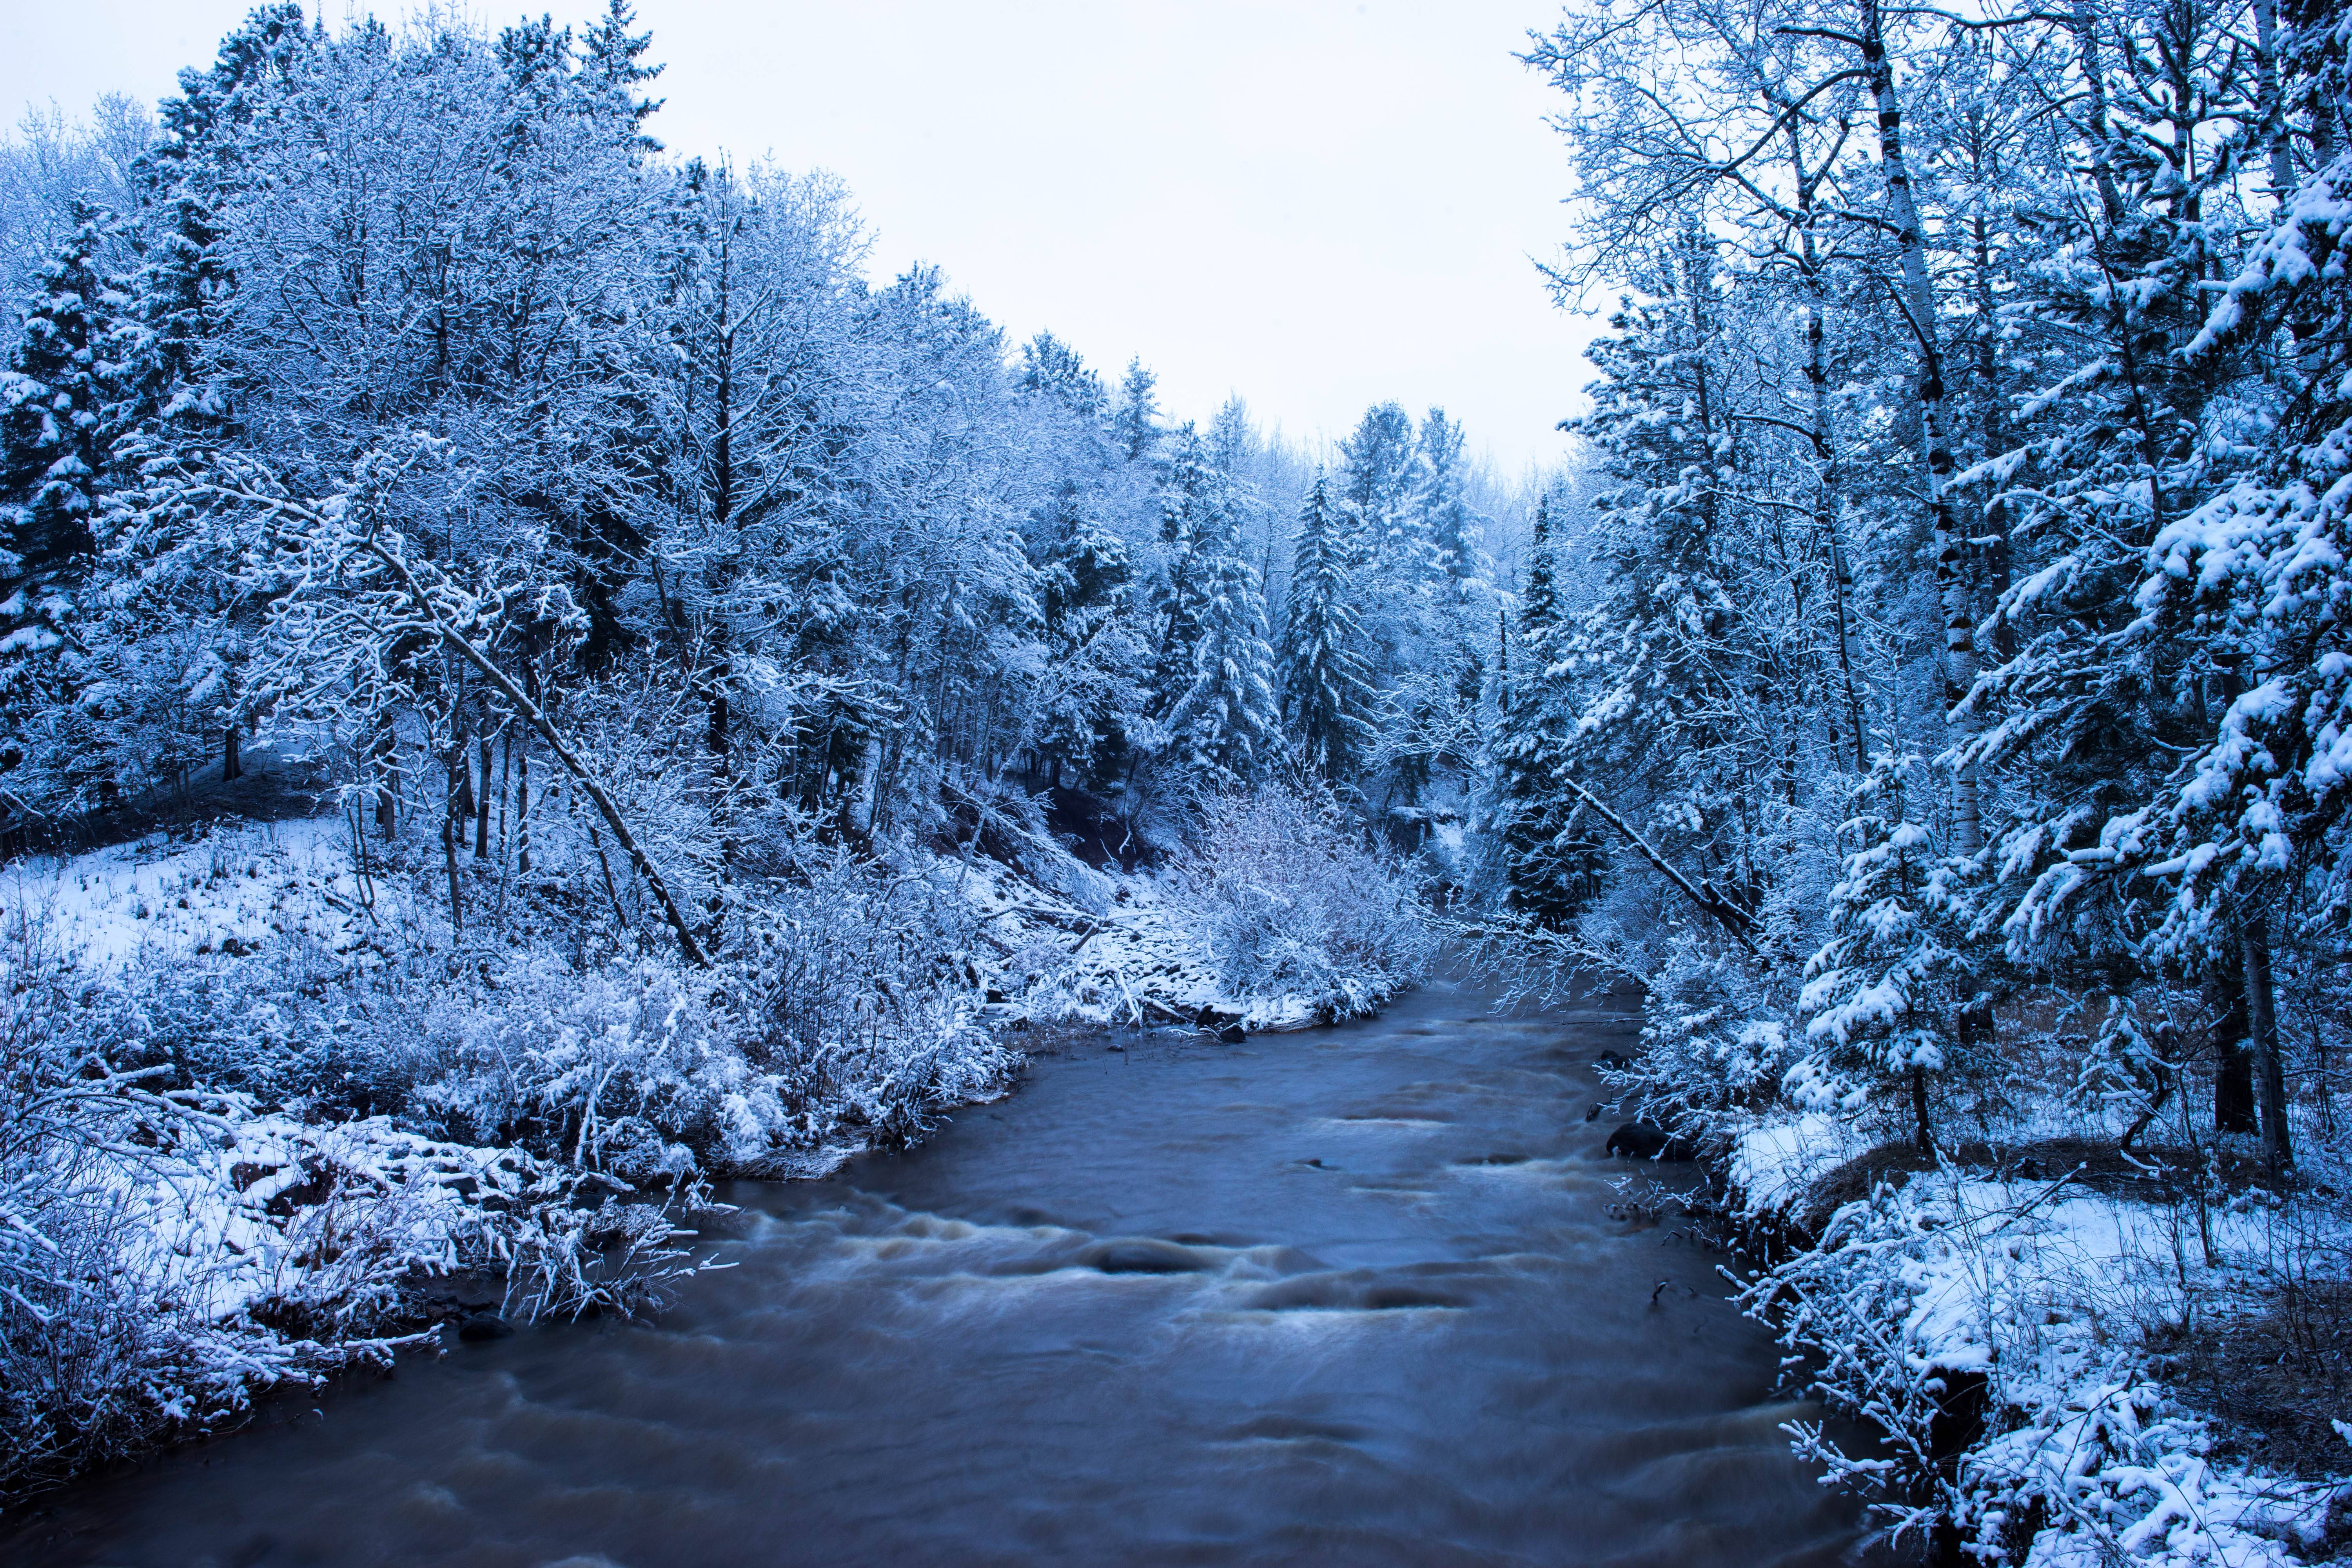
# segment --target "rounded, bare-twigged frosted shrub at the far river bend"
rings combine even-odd
[[[1183,917],[1237,1001],[1294,994],[1355,1018],[1430,964],[1435,938],[1406,879],[1298,790],[1209,802],[1185,870]]]

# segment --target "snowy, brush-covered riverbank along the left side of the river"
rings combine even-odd
[[[731,884],[694,966],[567,830],[546,806],[494,860],[358,816],[226,823],[7,872],[0,1497],[449,1316],[652,1312],[706,1262],[708,1182],[913,1147],[1042,1027],[1247,1037],[1369,1013],[1421,964],[1383,877],[1211,830],[1181,877],[802,846]],[[1263,964],[1268,889],[1374,919]]]

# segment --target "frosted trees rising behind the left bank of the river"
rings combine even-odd
[[[477,853],[489,748],[506,780],[562,736],[666,780],[696,900],[762,837],[938,835],[1009,778],[1162,837],[1294,757],[1406,823],[1461,799],[1491,484],[1442,411],[1312,480],[1240,400],[1174,423],[934,270],[870,287],[823,176],[661,153],[630,26],[263,7],[151,146],[120,103],[28,122],[16,825],[103,832],[256,731]]]

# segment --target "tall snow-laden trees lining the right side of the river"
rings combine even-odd
[[[2272,0],[1534,35],[1555,284],[1623,303],[1496,886],[1651,983],[1656,1103],[1926,1147],[2065,1095],[2272,1173],[2338,1126],[2345,47]]]

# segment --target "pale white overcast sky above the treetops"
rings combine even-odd
[[[111,89],[153,101],[247,2],[0,9],[14,115]],[[1562,449],[1592,322],[1555,310],[1531,263],[1559,242],[1564,167],[1548,94],[1512,59],[1555,0],[637,14],[668,63],[654,132],[673,150],[840,174],[877,275],[934,261],[1009,334],[1049,327],[1105,378],[1143,355],[1171,414],[1240,393],[1294,437],[1331,437],[1397,397],[1444,404],[1508,473]]]

